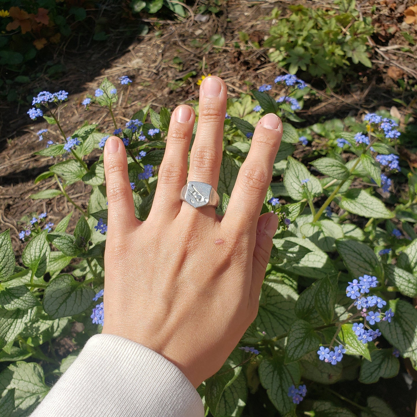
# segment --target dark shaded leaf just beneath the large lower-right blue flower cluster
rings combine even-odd
[[[319,350],[319,346],[317,346]],[[317,352],[311,352],[304,356],[299,362],[303,378],[320,384],[334,384],[342,378],[343,365],[337,362],[336,365],[326,363],[319,359]]]

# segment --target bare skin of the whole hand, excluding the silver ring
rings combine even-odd
[[[158,352],[194,387],[220,369],[255,319],[278,225],[276,214],[259,216],[282,136],[282,123],[274,114],[256,126],[223,217],[213,207],[196,209],[179,199],[187,181],[217,189],[226,98],[220,78],[203,80],[188,176],[195,113],[185,105],[173,111],[146,221],[135,217],[122,141],[113,136],[104,149],[108,236],[103,333]]]

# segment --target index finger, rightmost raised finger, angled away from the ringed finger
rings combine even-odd
[[[281,119],[266,114],[258,122],[251,148],[239,169],[222,226],[256,231],[266,191],[271,183],[272,168],[282,137]]]

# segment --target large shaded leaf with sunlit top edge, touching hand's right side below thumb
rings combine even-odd
[[[286,284],[265,279],[259,300],[258,315],[254,321],[260,332],[274,337],[288,332],[296,319],[294,305],[298,294]]]

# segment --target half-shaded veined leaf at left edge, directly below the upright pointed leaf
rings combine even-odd
[[[5,310],[28,310],[40,305],[38,299],[25,286],[22,279],[16,278],[0,284],[0,307]]]

